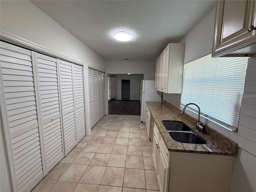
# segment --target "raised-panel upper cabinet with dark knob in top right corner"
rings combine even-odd
[[[212,56],[256,53],[256,1],[217,1]]]

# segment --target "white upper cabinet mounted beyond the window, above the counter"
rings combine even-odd
[[[184,65],[184,43],[170,43],[156,60],[156,90],[181,93]]]

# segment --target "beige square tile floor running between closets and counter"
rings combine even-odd
[[[32,192],[157,192],[152,143],[139,116],[106,115]]]

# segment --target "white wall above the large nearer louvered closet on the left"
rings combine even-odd
[[[105,71],[106,62],[29,1],[0,1],[1,30]]]

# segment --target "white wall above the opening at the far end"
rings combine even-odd
[[[155,80],[156,62],[106,62],[108,74],[144,74],[144,80]]]

